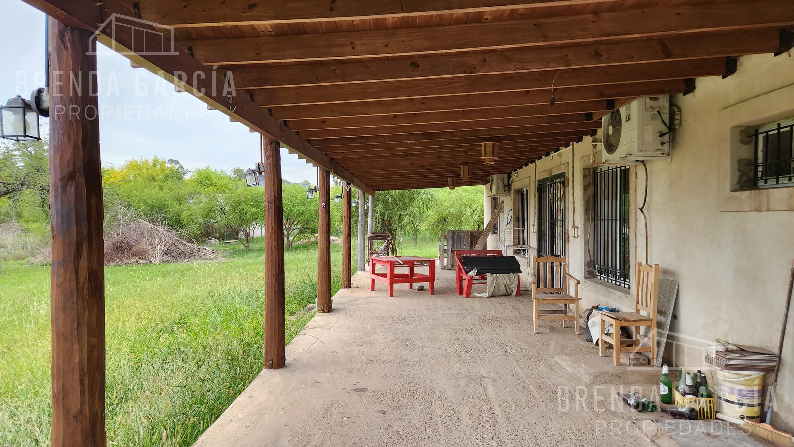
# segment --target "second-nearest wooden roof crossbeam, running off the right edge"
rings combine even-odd
[[[736,0],[534,20],[183,43],[191,45],[196,58],[205,64],[255,64],[507,49],[792,24],[794,9],[789,0]]]

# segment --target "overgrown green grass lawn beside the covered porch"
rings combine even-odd
[[[263,252],[258,239],[220,262],[106,267],[109,445],[191,445],[259,373]],[[436,257],[437,243],[406,241],[400,254]],[[339,245],[331,264],[336,293]],[[49,271],[3,262],[0,445],[49,443]],[[288,314],[314,303],[315,245],[287,252],[286,283]],[[287,320],[287,343],[310,317]]]

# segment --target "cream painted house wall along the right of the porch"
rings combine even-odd
[[[662,278],[680,282],[677,319],[670,329],[702,340],[723,337],[774,351],[794,258],[794,187],[732,192],[735,138],[731,130],[794,117],[794,58],[769,54],[742,57],[734,76],[697,80],[694,93],[676,95],[671,102],[681,107],[683,123],[671,161],[647,162],[645,208],[649,262],[660,265]],[[529,187],[530,224],[536,221],[534,185],[549,173],[565,170],[566,251],[572,274],[583,280],[580,296],[588,306],[611,304],[626,310],[634,303],[629,290],[605,286],[584,274],[589,223],[584,222],[583,169],[599,161],[598,149],[592,148],[589,138],[584,138],[518,170],[505,212],[513,206],[515,191]],[[631,167],[630,179],[634,264],[634,259],[646,258],[644,223],[637,212],[645,189],[642,166]],[[490,216],[488,208],[487,199],[486,216]],[[572,237],[574,225],[579,237]],[[499,239],[491,236],[488,245],[497,247],[498,243]],[[530,233],[530,246],[537,247],[535,232]],[[595,355],[595,348],[593,352]],[[701,358],[689,357],[684,358],[679,350],[673,360],[684,366],[703,364]],[[788,323],[777,396],[777,422],[791,430],[794,315]]]

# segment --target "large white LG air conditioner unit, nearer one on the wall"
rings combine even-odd
[[[604,163],[670,157],[670,97],[646,96],[611,111],[602,119]]]

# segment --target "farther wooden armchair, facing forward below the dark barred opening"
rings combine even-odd
[[[568,264],[565,256],[532,257],[532,310],[535,324],[535,333],[538,333],[538,323],[543,320],[562,321],[562,327],[567,327],[568,321],[573,321],[573,331],[579,332],[579,280],[568,273]],[[570,294],[570,283],[573,283],[573,294]],[[543,310],[541,304],[561,304],[562,310]],[[573,315],[569,315],[569,306],[573,306]]]

